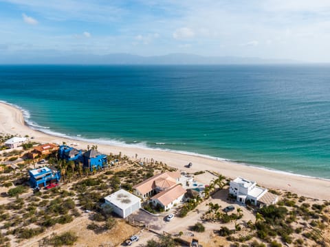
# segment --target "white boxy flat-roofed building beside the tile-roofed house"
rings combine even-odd
[[[113,209],[113,212],[123,218],[129,216],[141,207],[141,199],[124,189],[115,191],[115,193],[106,196],[104,200],[105,203]]]

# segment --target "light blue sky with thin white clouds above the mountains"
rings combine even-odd
[[[0,54],[330,62],[329,0],[0,0]],[[28,55],[27,55],[28,54]]]

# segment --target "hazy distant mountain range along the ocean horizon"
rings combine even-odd
[[[47,53],[46,53],[47,54]],[[43,56],[40,52],[21,56],[0,56],[0,64],[297,64],[296,60],[263,59],[235,56],[199,56],[193,54],[168,54],[164,56],[137,56],[132,54],[58,54]]]

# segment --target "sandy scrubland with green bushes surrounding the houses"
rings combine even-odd
[[[144,226],[132,226],[113,215],[110,208],[102,207],[103,198],[120,188],[132,191],[133,185],[154,174],[176,170],[161,161],[142,162],[118,153],[108,156],[113,165],[91,172],[58,159],[56,154],[29,160],[26,153],[30,150],[0,154],[0,163],[17,165],[1,165],[1,246],[64,246],[83,242],[94,246],[120,245],[127,237],[143,231]],[[17,159],[10,161],[12,156]],[[61,187],[32,192],[28,169],[40,166],[40,158],[61,170]],[[193,175],[205,180],[207,173],[210,174],[199,171]],[[261,209],[253,205],[241,209],[237,205],[235,211],[225,213],[221,205],[236,205],[234,198],[228,196],[230,179],[217,172],[212,172],[212,176],[202,196],[177,205],[175,214],[186,224],[180,222],[181,226],[173,227],[170,235],[163,237],[146,234],[141,243],[180,246],[188,242],[185,233],[190,231],[203,246],[329,246],[329,201],[277,189],[272,190],[281,198],[276,205]]]

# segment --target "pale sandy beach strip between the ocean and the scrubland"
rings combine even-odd
[[[35,141],[41,143],[62,143],[67,142],[68,145],[73,142],[79,142],[78,148],[86,149],[87,145],[93,145],[96,142],[87,140],[74,139],[72,137],[58,137],[56,135],[47,134],[41,130],[34,130],[28,126],[23,117],[22,108],[18,108],[14,104],[0,102],[0,132],[7,134],[18,134],[25,136],[28,134],[34,137]],[[198,154],[184,154],[183,152],[175,152],[175,150],[160,150],[153,148],[137,148],[133,146],[120,146],[110,144],[98,144],[98,150],[105,154],[122,152],[126,156],[133,157],[137,154],[137,158],[153,158],[156,161],[162,161],[170,167],[175,167],[186,172],[198,172],[201,170],[209,170],[218,172],[228,178],[236,178],[243,176],[244,178],[255,180],[256,183],[267,187],[268,189],[282,189],[292,191],[300,196],[309,198],[317,198],[321,200],[329,200],[330,198],[330,180],[327,178],[316,178],[300,174],[291,174],[278,170],[267,169],[264,167],[256,167],[253,165],[243,165],[234,163],[217,157],[207,157]],[[184,165],[192,162],[191,168]]]

